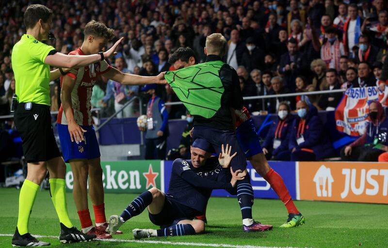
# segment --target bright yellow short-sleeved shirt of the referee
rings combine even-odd
[[[50,66],[45,64],[54,47],[24,34],[12,49],[12,69],[15,74],[19,103],[33,102],[50,106]]]

